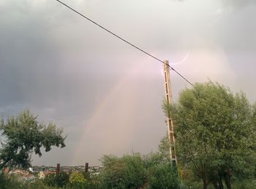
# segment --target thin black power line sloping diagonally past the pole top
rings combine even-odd
[[[149,55],[151,58],[154,58],[155,60],[157,60],[161,63],[165,63],[164,61],[161,61],[159,58],[155,57],[154,55],[151,55],[150,53],[147,53],[145,50],[142,50],[140,47],[137,47],[136,45],[133,45],[132,43],[128,42],[126,39],[122,38],[121,36],[118,36],[117,34],[113,33],[112,31],[108,30],[107,28],[99,25],[99,23],[96,23],[94,20],[91,20],[90,18],[86,17],[85,15],[83,15],[82,13],[73,9],[72,7],[69,7],[69,5],[65,4],[64,2],[59,1],[59,0],[56,0],[56,1],[58,1],[60,4],[63,4],[65,7],[71,9],[73,12],[82,16],[83,18],[86,18],[86,20],[89,20],[91,23],[94,23],[95,25],[99,26],[99,28],[102,28],[103,30],[108,31],[108,33],[112,34],[113,36],[116,36],[118,39],[121,39],[123,42],[126,42],[128,45],[131,45],[132,47],[135,47],[136,49],[140,50],[140,52],[145,53],[146,55]],[[176,69],[173,69],[173,67],[170,66],[167,63],[165,63],[165,64],[169,67],[170,70],[173,70],[174,72],[176,72],[176,74],[178,74],[180,77],[182,77],[185,81],[187,81],[190,85],[192,85],[194,87],[192,82],[189,82],[189,80],[187,80],[183,75],[181,75]]]

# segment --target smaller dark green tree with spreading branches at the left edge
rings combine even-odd
[[[0,131],[3,142],[0,149],[0,169],[4,166],[31,165],[30,153],[41,156],[41,147],[48,152],[52,146],[65,147],[63,130],[53,123],[46,126],[37,121],[28,109],[20,112],[17,117],[1,120]]]

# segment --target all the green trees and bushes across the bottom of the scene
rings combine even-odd
[[[165,135],[156,153],[104,155],[99,174],[60,172],[34,182],[0,174],[0,188],[256,188],[256,104],[249,104],[244,93],[234,94],[218,83],[197,83],[181,91],[173,106],[165,102],[163,109],[174,123],[178,171],[170,164]],[[1,167],[26,167],[32,151],[41,155],[40,147],[64,147],[62,131],[52,123],[37,123],[27,110],[2,120],[0,129],[6,139]]]

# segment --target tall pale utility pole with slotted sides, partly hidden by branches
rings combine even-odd
[[[170,66],[169,61],[164,61],[164,77],[165,77],[165,99],[168,104],[173,103],[173,96],[170,90]],[[175,153],[175,138],[173,135],[173,121],[171,117],[167,116],[167,129],[168,129],[168,137],[170,140],[170,160],[172,161],[173,165],[176,165],[177,159],[176,159],[176,153]]]

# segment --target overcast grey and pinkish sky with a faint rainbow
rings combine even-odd
[[[256,101],[255,0],[63,0],[192,83]],[[27,108],[67,135],[33,165],[99,165],[155,152],[165,135],[162,63],[54,0],[0,0],[0,115]],[[173,101],[191,86],[171,72]]]

